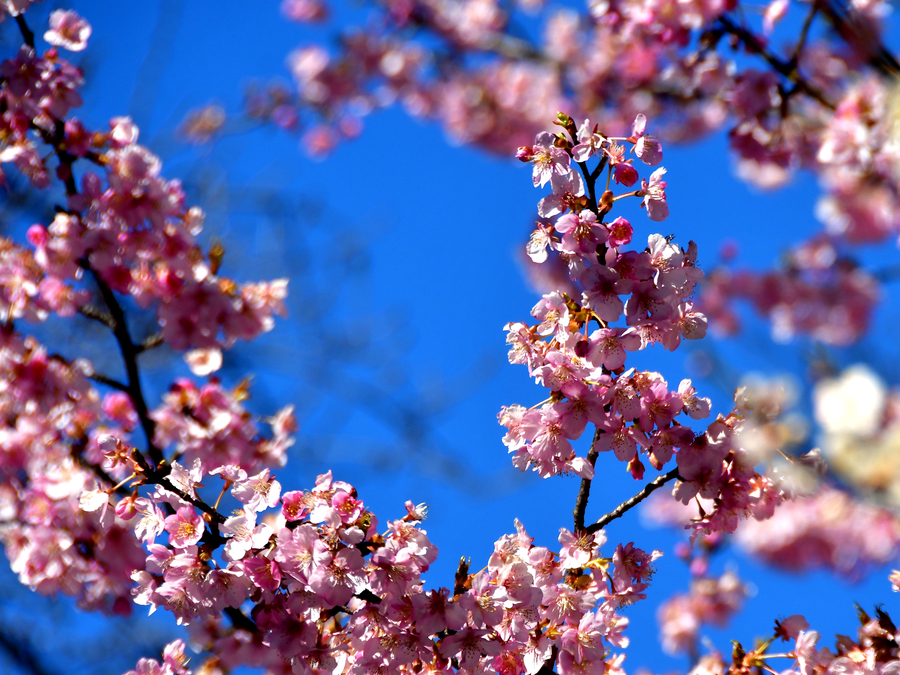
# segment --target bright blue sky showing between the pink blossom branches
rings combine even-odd
[[[358,488],[382,522],[401,516],[407,499],[427,502],[426,529],[441,550],[427,575],[430,585],[451,585],[463,555],[479,569],[492,543],[513,531],[516,517],[538,544],[555,547],[559,528],[571,527],[577,482],[519,474],[496,421],[501,405],[543,398],[524,367],[506,362],[502,332],[506,322],[525,320],[537,299],[517,260],[542,196],[528,167],[453,147],[436,125],[397,109],[368,118],[358,140],[323,162],[309,160],[296,138],[274,129],[225,138],[213,148],[186,148],[171,131],[187,110],[216,101],[237,113],[246,84],[287,81],[287,53],[323,34],[282,19],[277,3],[248,9],[226,0],[215,10],[176,0],[71,6],[94,28],[83,57],[88,86],[81,116],[97,128],[112,116],[135,118],[141,142],[165,161],[165,175],[184,178],[191,202],[208,211],[204,236],[223,240],[224,273],[241,280],[294,279],[291,318],[227,355],[225,374],[236,383],[245,370],[254,372],[252,403],[261,414],[297,404],[301,431],[282,474],[285,488],[308,488],[331,468]],[[50,8],[38,6],[34,16]],[[358,8],[339,12],[342,19],[361,14]],[[32,28],[40,34],[34,16]],[[166,17],[161,24],[160,16]],[[4,25],[4,35],[14,40],[10,28]],[[636,241],[653,232],[674,233],[684,245],[694,239],[708,269],[722,244],[735,240],[738,263],[762,268],[816,231],[812,179],[799,176],[772,194],[754,191],[733,178],[726,148],[723,135],[665,146],[672,215],[658,226],[636,204],[626,207]],[[283,209],[275,208],[273,195]],[[890,256],[896,257],[893,249],[877,257]],[[304,321],[326,297],[331,309],[324,319]],[[881,312],[879,329],[895,324],[889,311]],[[332,334],[344,340],[333,359],[322,354]],[[69,336],[68,344],[74,349],[80,337]],[[775,346],[766,327],[753,321],[742,337],[711,345],[737,371],[770,374],[802,374],[807,347]],[[85,353],[98,349],[88,345]],[[677,385],[692,376],[686,357],[695,350],[691,345],[671,355],[653,349],[634,363]],[[894,341],[870,340],[835,354],[851,363],[864,354],[895,352]],[[187,374],[166,353],[149,359],[145,372],[151,400],[173,372]],[[730,392],[701,379],[695,384],[717,410],[729,407]],[[589,507],[594,518],[640,487],[615,461],[598,467],[601,480]],[[661,653],[654,618],[662,599],[687,586],[687,571],[671,554],[681,535],[649,530],[637,514],[607,533],[609,552],[620,541],[634,541],[666,554],[649,600],[626,612],[632,620],[628,670],[683,669],[684,660]],[[825,573],[786,575],[731,549],[715,566],[736,568],[756,588],[731,629],[708,631],[724,650],[730,648],[726,638],[750,644],[769,632],[773,619],[793,613],[805,613],[831,644],[835,632],[855,631],[853,602],[871,608],[882,601],[889,611],[894,603],[884,574],[857,585]]]

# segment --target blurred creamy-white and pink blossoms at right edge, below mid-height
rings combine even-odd
[[[818,440],[824,449],[814,448],[798,457],[787,453],[806,440],[806,425],[789,410],[792,396],[786,389],[783,382],[757,380],[735,394],[743,418],[742,444],[755,463],[774,466],[783,484],[791,486],[792,498],[765,522],[748,519],[741,523],[733,541],[774,567],[791,571],[824,568],[858,579],[896,559],[900,518],[890,508],[838,489],[829,469],[838,466],[842,479],[868,475],[869,480],[892,480],[887,458],[895,453],[878,451],[876,439],[892,433],[893,418],[887,410],[895,402],[889,406],[888,392],[880,380],[858,366],[840,377],[820,381],[815,391],[816,417],[822,431]],[[845,466],[854,462],[863,464],[856,473]],[[860,480],[857,487],[866,484]],[[715,503],[701,498],[683,504],[656,494],[644,506],[644,515],[651,522],[681,527],[714,509]],[[714,534],[703,538],[704,548],[724,542],[721,533]]]

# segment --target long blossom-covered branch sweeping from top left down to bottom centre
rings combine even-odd
[[[191,625],[229,669],[618,668],[623,657],[611,649],[627,644],[627,621],[616,610],[644,597],[658,554],[629,544],[603,558],[601,531],[565,529],[554,553],[519,526],[484,570],[462,566],[452,592],[426,591],[421,573],[437,550],[418,526],[423,509],[408,503],[407,515],[379,533],[352,486],[330,473],[309,492],[282,490],[271,467],[283,464],[296,431],[289,410],[268,420],[274,437],[265,439],[241,405],[242,387],[179,380],[159,407],[147,404],[143,351],[161,340],[183,349],[251,339],[270,327],[284,284],[239,287],[218,277],[221,252],[203,254],[194,242],[202,214],[185,206],[177,181],[162,178],[134,125],[117,118],[95,133],[63,119],[80,103],[80,71],[55,49],[37,56],[21,15],[18,23],[26,45],[0,68],[4,156],[27,158],[16,166],[37,187],[55,174],[66,195],[50,226],[29,229],[31,249],[10,244],[7,256],[2,535],[23,583],[107,612],[129,611],[131,595]],[[59,25],[87,32],[73,13],[56,17]],[[63,86],[54,84],[60,77]],[[652,156],[653,144],[644,146]],[[38,148],[50,150],[47,158]],[[30,275],[19,280],[24,293],[13,283],[18,268]],[[96,288],[81,285],[84,271]],[[45,287],[73,300],[54,305]],[[155,306],[160,337],[132,340],[119,300],[126,296]],[[127,382],[49,356],[16,331],[18,318],[74,310],[113,333]],[[112,391],[101,396],[91,380]],[[143,450],[134,444],[139,428]],[[219,510],[222,500],[237,505],[235,515]],[[183,644],[135,672],[183,674]]]

